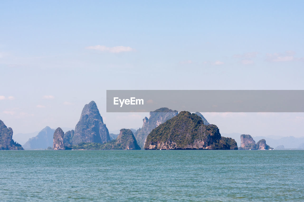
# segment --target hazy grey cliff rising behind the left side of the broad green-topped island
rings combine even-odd
[[[165,123],[167,120],[171,119],[177,114],[178,111],[168,109],[167,107],[162,107],[160,109],[156,109],[153,112],[150,112],[149,119],[145,117],[143,119],[143,127],[138,129],[135,133],[135,138],[137,140],[138,145],[143,148],[149,133],[154,128],[156,128],[162,123]]]

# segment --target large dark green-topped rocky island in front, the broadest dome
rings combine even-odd
[[[146,150],[173,149],[237,149],[231,138],[222,138],[216,125],[205,125],[194,113],[182,111],[157,126],[147,136]]]

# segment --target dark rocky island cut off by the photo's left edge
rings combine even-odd
[[[19,143],[16,143],[13,139],[13,130],[5,126],[2,120],[0,120],[0,150],[23,150]]]

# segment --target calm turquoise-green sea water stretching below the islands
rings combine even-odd
[[[0,151],[1,201],[304,201],[304,151]]]

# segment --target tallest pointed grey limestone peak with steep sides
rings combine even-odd
[[[102,121],[94,101],[82,109],[80,120],[71,139],[73,145],[79,143],[105,143],[110,141],[109,130]]]

